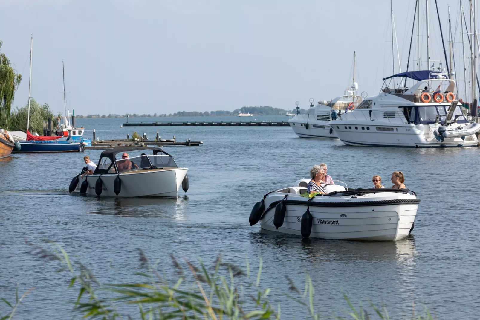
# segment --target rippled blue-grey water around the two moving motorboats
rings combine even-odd
[[[224,118],[237,120],[215,120]],[[186,194],[180,190],[178,200],[69,195],[83,156],[97,160],[99,150],[20,154],[1,161],[0,296],[13,300],[16,283],[21,292],[35,286],[18,319],[67,318],[72,308],[67,300],[75,294],[66,290],[68,275],[35,258],[25,238],[58,241],[105,281],[134,279],[137,247],[167,267],[169,253],[213,261],[222,252],[225,260],[240,266],[247,256],[251,262],[261,256],[262,283],[278,293],[288,288],[285,274],[303,287],[309,273],[324,315],[347,308],[344,290],[355,302],[383,302],[395,319],[408,317],[413,303],[416,310],[428,306],[438,319],[478,318],[478,148],[348,147],[333,139],[298,138],[289,127],[120,128],[123,122],[79,119],[77,124],[87,127],[86,136],[95,128],[101,139],[126,137],[134,130],[152,137],[159,130],[162,138],[203,141],[201,147],[165,148],[179,166],[189,168],[190,189]],[[350,187],[371,186],[373,174],[380,174],[387,186],[393,171],[403,171],[405,184],[422,200],[412,235],[396,243],[303,242],[262,231],[258,224],[249,226],[256,201],[308,177],[312,165],[320,162]],[[282,313],[285,319],[299,319],[305,309],[284,301]]]

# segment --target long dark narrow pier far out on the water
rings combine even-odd
[[[127,122],[124,127],[134,126],[171,126],[171,125],[219,125],[219,126],[289,126],[288,121],[195,121],[195,122]]]

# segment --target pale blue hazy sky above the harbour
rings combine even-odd
[[[426,56],[420,2],[420,50]],[[438,0],[445,41],[447,3],[452,20],[459,15],[456,1]],[[429,6],[431,57],[444,60],[435,2]],[[393,0],[402,71],[414,7],[415,0]],[[309,98],[344,94],[353,81],[354,51],[359,93],[378,94],[382,77],[393,73],[385,0],[0,0],[0,11],[1,50],[23,77],[15,107],[28,101],[31,34],[32,97],[63,112],[63,60],[67,109],[82,115],[265,105],[292,110],[295,101],[308,108]],[[459,28],[453,23],[458,65]],[[412,56],[416,43],[417,31]]]

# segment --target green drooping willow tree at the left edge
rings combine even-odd
[[[0,41],[0,49],[3,44]],[[10,60],[0,52],[0,127],[9,127],[10,110],[22,75],[15,73]]]

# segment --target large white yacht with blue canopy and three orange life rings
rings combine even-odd
[[[429,70],[394,74],[383,80],[407,78],[411,87],[390,89],[386,82],[379,95],[368,97],[354,111],[329,122],[347,145],[382,147],[477,146],[480,123],[468,121],[458,104],[455,81]],[[404,81],[405,80],[405,81]]]

